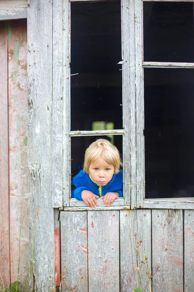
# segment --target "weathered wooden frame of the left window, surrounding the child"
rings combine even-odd
[[[90,2],[93,2],[92,0]],[[99,1],[99,0],[98,0]],[[101,0],[104,1],[104,0]],[[123,165],[124,165],[124,198],[116,199],[110,207],[104,206],[98,199],[95,210],[130,209],[136,205],[136,141],[135,141],[135,40],[134,40],[134,0],[121,0],[121,29],[122,29],[122,90],[123,90],[123,129],[99,131],[70,130],[70,22],[71,2],[80,0],[64,0],[63,32],[64,32],[64,134],[63,134],[63,206],[64,210],[90,210],[83,201],[70,198],[70,146],[71,137],[122,135],[123,136]],[[110,2],[111,5],[111,2]],[[130,7],[130,9],[129,9]],[[130,38],[130,43],[129,43]],[[129,70],[130,69],[130,70]]]

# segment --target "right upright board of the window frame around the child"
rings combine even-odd
[[[133,7],[132,7],[133,8]],[[131,79],[133,75],[134,68],[132,68],[130,53],[134,50],[134,43],[131,43],[131,48],[129,47],[130,29],[129,26],[129,0],[123,0],[121,2],[121,21],[122,21],[122,83],[123,83],[123,128],[124,128],[124,139],[123,139],[123,188],[124,188],[124,198],[125,205],[130,205],[131,203],[131,176],[133,175],[131,169],[131,130],[133,126],[133,117],[131,116],[131,110],[133,109],[130,104],[131,99],[135,98],[134,83],[132,84]],[[132,26],[133,27],[133,26]],[[134,36],[133,36],[134,39]],[[130,51],[130,53],[129,53]],[[134,53],[134,52],[133,52]],[[132,70],[130,71],[130,68]],[[135,150],[135,149],[134,149]],[[136,174],[135,174],[136,177]],[[136,193],[135,193],[136,201]]]

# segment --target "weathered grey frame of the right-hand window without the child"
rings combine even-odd
[[[194,63],[144,62],[143,2],[135,0],[135,72],[136,72],[136,141],[137,141],[137,205],[149,209],[194,209],[194,198],[145,199],[145,146],[144,146],[144,68],[194,68]],[[155,1],[155,0],[151,0]],[[150,1],[150,2],[151,2]],[[163,0],[168,1],[168,0]],[[173,1],[173,0],[172,0]],[[174,0],[183,2],[182,0]],[[184,0],[185,2],[185,0]],[[188,0],[187,2],[191,2]],[[194,3],[194,1],[192,1]]]

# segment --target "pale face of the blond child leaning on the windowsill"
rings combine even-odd
[[[113,177],[114,166],[108,164],[103,158],[99,157],[90,164],[89,174],[95,183],[98,185],[105,185],[109,183]]]

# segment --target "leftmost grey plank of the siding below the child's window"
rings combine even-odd
[[[87,257],[87,212],[61,212],[63,292],[88,291]]]

